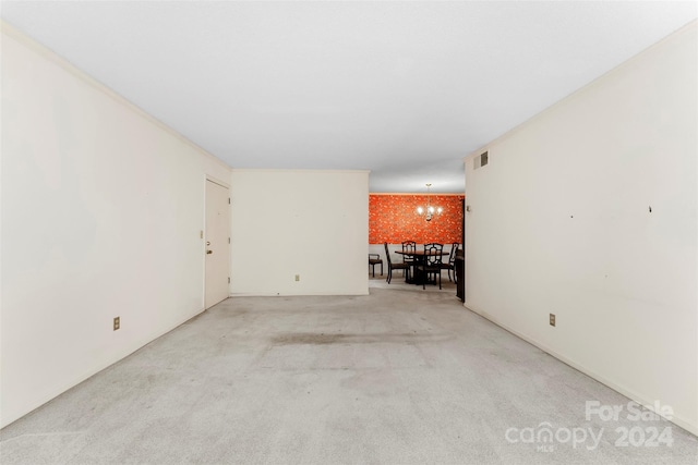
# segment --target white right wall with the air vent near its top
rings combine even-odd
[[[694,433],[696,29],[466,159],[466,305]]]

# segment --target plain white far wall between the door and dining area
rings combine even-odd
[[[231,179],[232,294],[369,293],[368,171],[233,170]]]

